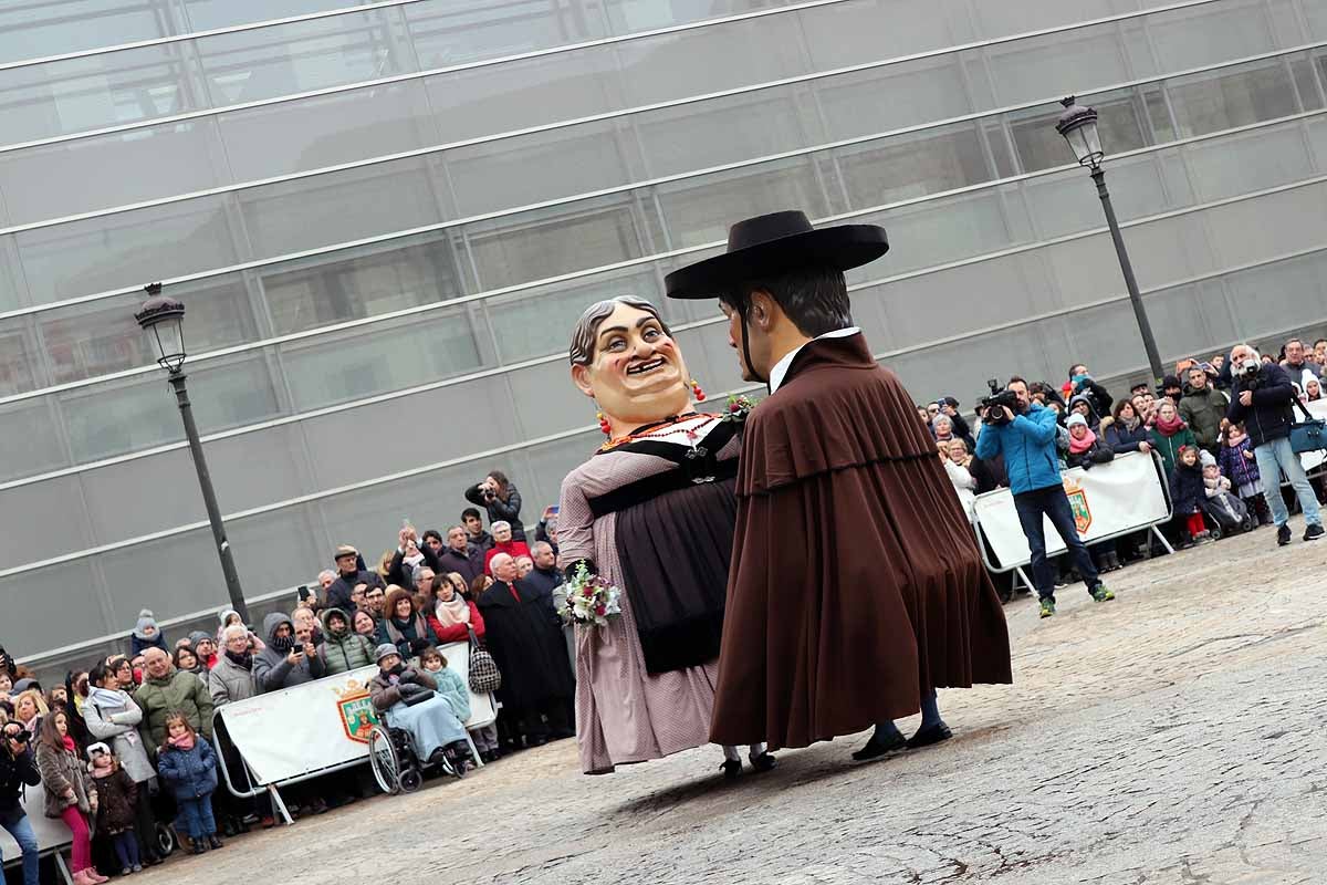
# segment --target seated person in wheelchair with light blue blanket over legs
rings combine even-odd
[[[384,726],[406,731],[421,762],[464,774],[463,760],[470,755],[466,727],[438,694],[437,681],[406,666],[394,645],[380,645],[374,657],[378,674],[369,682],[369,695]]]

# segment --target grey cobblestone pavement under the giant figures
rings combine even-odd
[[[715,747],[587,778],[575,742],[378,797],[154,882],[1327,882],[1327,541],[1269,529],[1006,612],[1013,687],[942,691],[955,739],[865,735],[726,785]],[[900,723],[908,730],[914,722]]]

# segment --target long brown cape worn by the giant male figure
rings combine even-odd
[[[1013,682],[936,442],[861,334],[805,345],[747,419],[710,739],[804,747]]]

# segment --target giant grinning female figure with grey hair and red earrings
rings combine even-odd
[[[709,743],[740,423],[693,410],[698,387],[649,301],[587,309],[571,364],[609,439],[563,480],[559,564],[622,589],[621,617],[576,628],[581,767],[606,774]],[[751,764],[775,762],[756,744]],[[740,771],[725,747],[725,775]]]

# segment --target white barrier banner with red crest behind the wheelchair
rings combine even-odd
[[[470,644],[439,649],[447,669],[468,685]],[[377,667],[305,682],[218,707],[231,742],[260,784],[369,759],[369,730],[378,722],[369,701]],[[491,695],[470,694],[470,727],[496,718]]]

